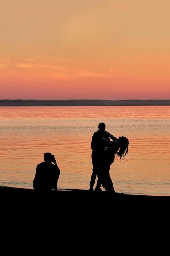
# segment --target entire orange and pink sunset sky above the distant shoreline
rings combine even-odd
[[[170,99],[170,0],[1,0],[0,99]]]

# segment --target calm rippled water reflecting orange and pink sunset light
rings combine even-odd
[[[55,154],[59,189],[89,189],[91,136],[100,122],[130,141],[110,168],[117,192],[170,195],[170,106],[0,107],[0,186],[32,188],[43,154]]]

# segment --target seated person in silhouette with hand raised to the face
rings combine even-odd
[[[44,154],[44,162],[37,165],[33,188],[36,190],[57,190],[59,175],[60,169],[54,155],[47,152]]]

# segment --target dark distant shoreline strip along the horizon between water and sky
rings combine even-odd
[[[168,100],[0,100],[1,107],[21,106],[170,106]]]

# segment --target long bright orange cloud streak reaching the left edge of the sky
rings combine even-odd
[[[114,77],[117,70],[109,69],[108,72],[96,72],[92,70],[75,67],[74,63],[63,63],[60,61],[45,59],[38,60],[36,58],[24,58],[20,61],[3,61],[0,62],[0,68],[8,68],[14,75],[28,75],[36,78],[47,78],[47,79],[78,79],[78,78],[90,78],[90,77]]]

